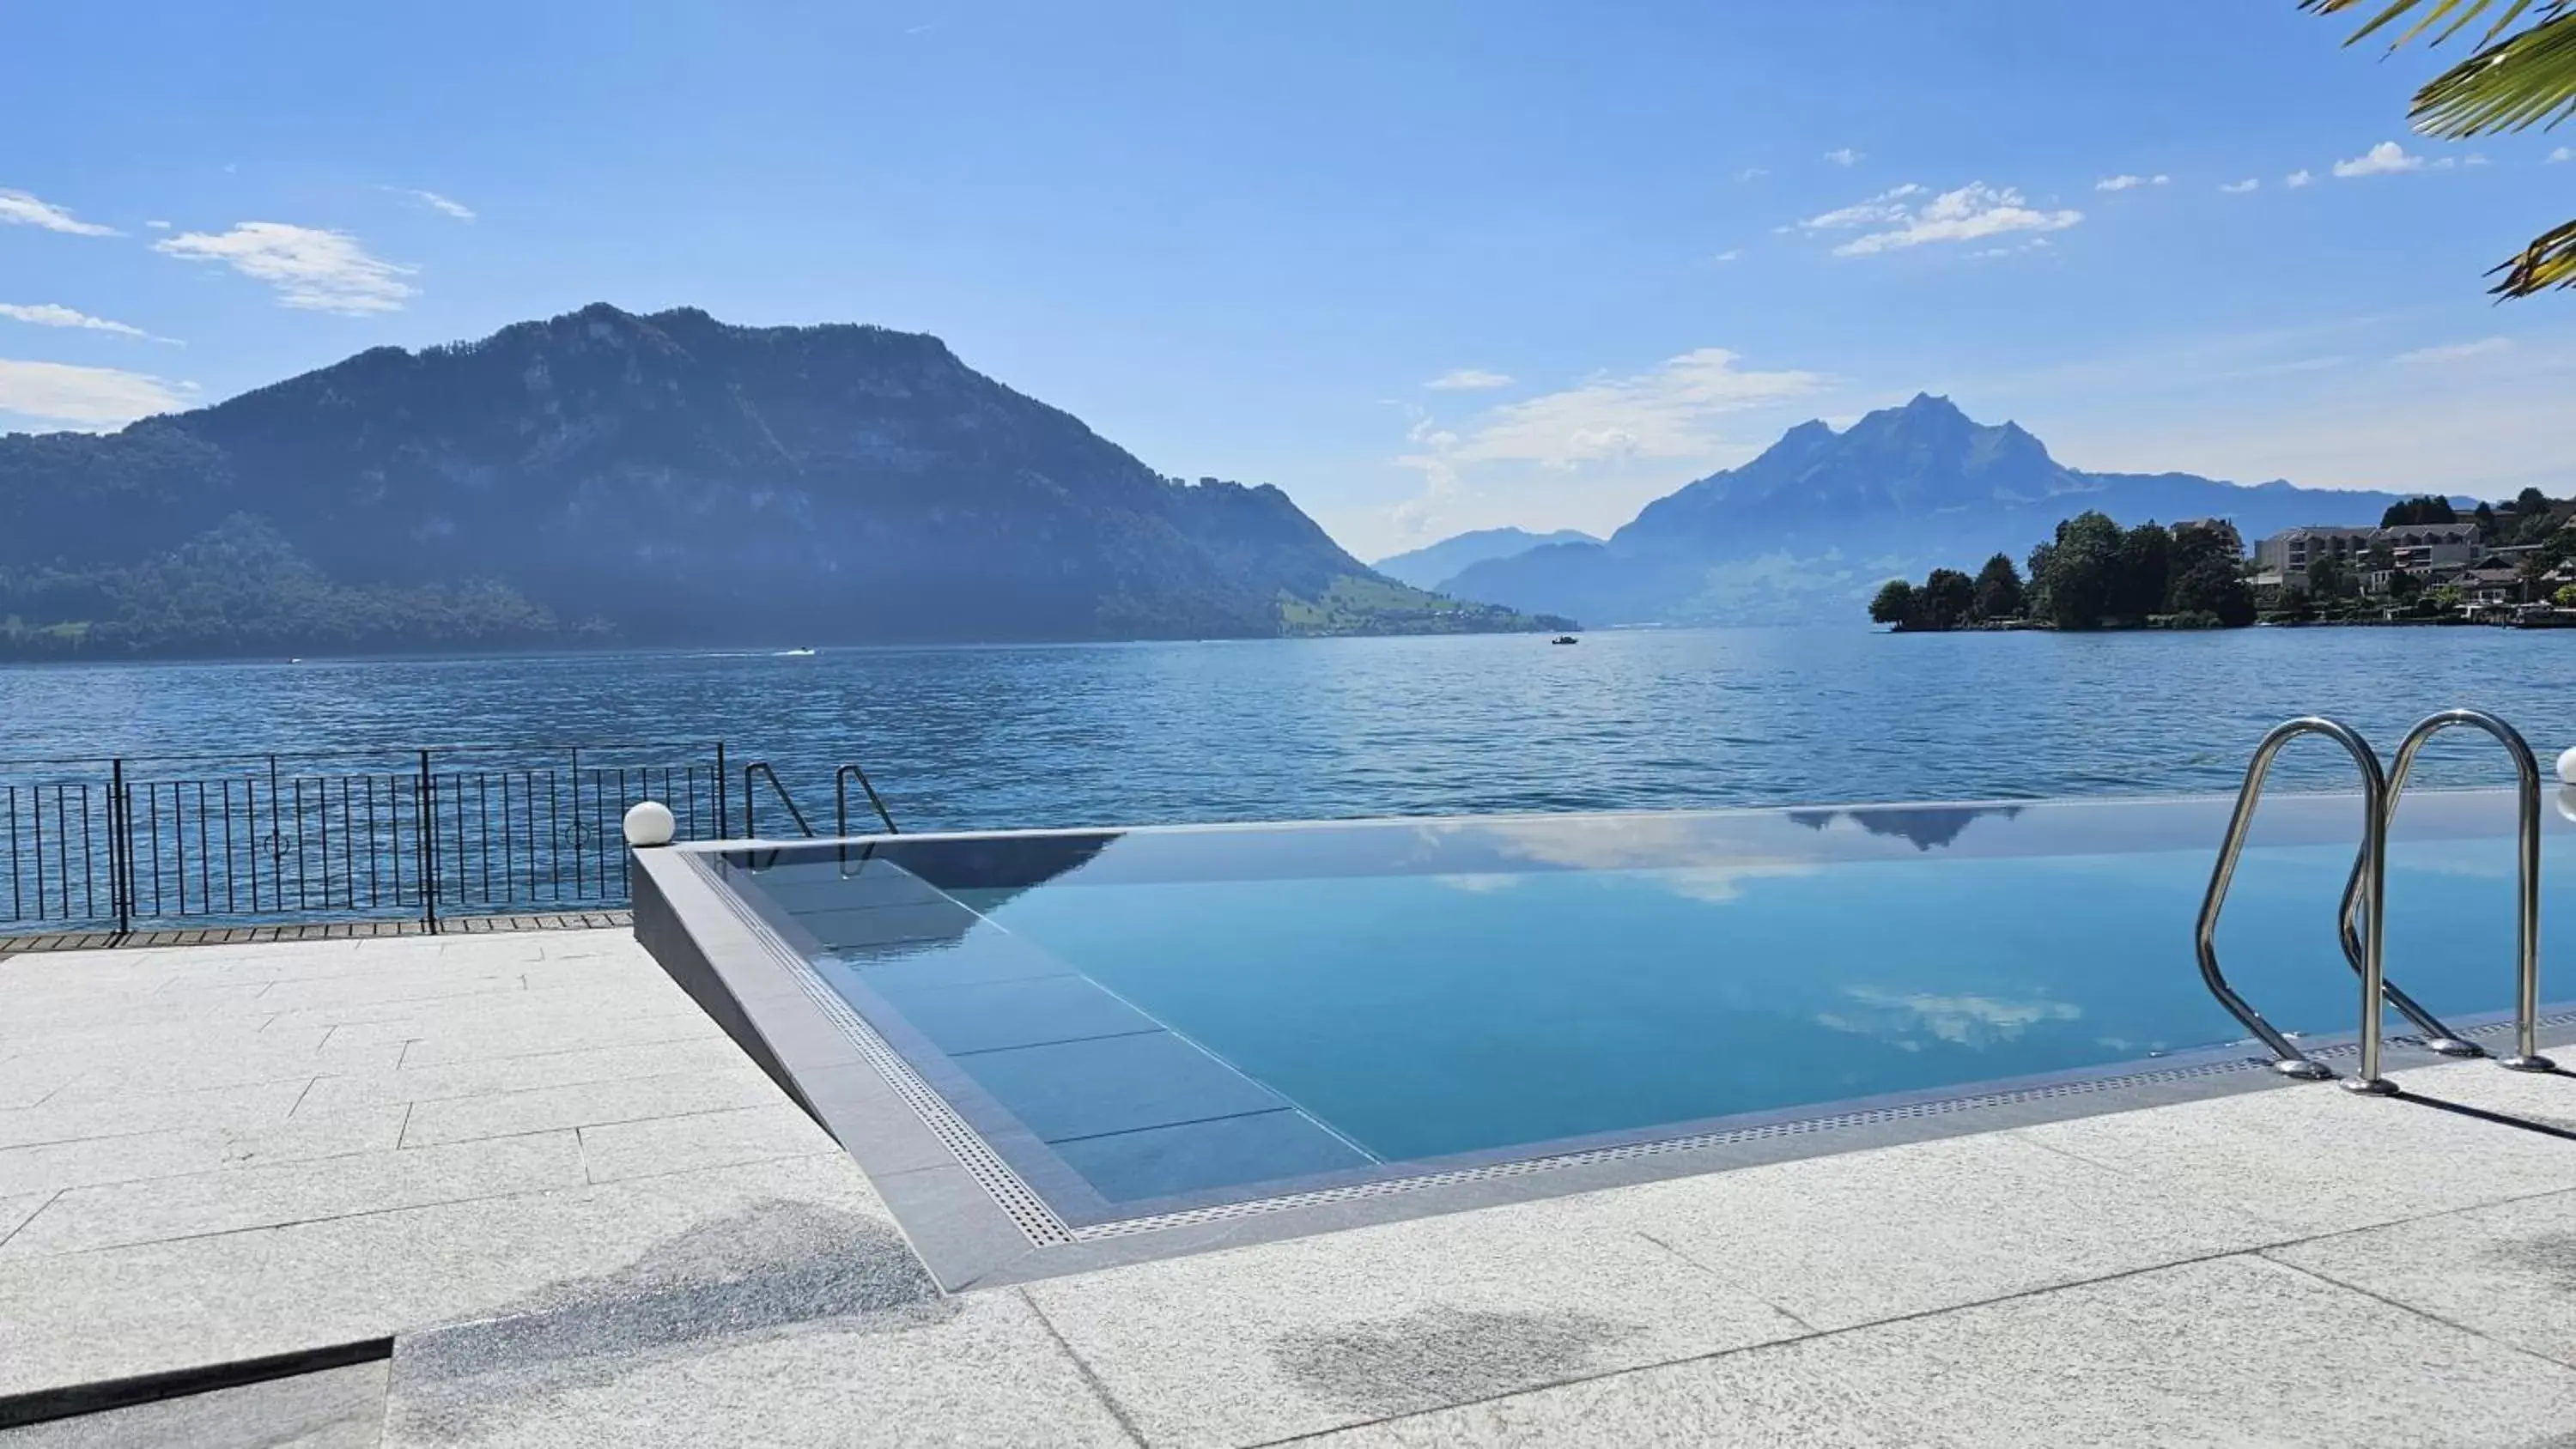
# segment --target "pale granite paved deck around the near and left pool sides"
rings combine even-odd
[[[943,1295],[626,932],[5,955],[0,1405],[392,1359],[0,1446],[2576,1444],[2576,1078],[2398,1081]]]

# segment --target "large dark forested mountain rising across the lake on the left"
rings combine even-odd
[[[1558,628],[1383,579],[938,337],[613,306],[0,438],[0,651]]]

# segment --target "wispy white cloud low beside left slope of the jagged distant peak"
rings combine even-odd
[[[1466,435],[1417,420],[1412,438],[1427,450],[1404,463],[1427,476],[1455,476],[1463,463],[1577,468],[1615,458],[1703,458],[1723,443],[1708,427],[1716,417],[1821,386],[1816,373],[1749,373],[1736,368],[1736,353],[1700,347],[1643,373],[1502,404]]]

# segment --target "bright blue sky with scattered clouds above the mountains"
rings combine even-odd
[[[1363,556],[1607,530],[1914,391],[2087,468],[2576,492],[2576,301],[2481,283],[2576,211],[2576,136],[2411,136],[2439,57],[2342,33],[2293,0],[18,5],[0,427],[613,301],[938,332]]]

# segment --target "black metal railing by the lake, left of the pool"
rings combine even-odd
[[[629,806],[732,795],[724,744],[0,762],[0,932],[621,906]]]

